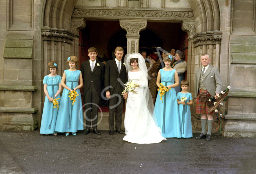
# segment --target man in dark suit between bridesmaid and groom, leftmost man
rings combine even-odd
[[[86,129],[83,135],[90,133],[92,124],[93,133],[100,135],[97,130],[98,106],[100,103],[101,91],[104,86],[105,65],[97,59],[98,51],[95,47],[88,49],[90,60],[81,63],[81,73],[83,76],[83,96],[86,109]],[[94,104],[89,104],[94,103]]]

